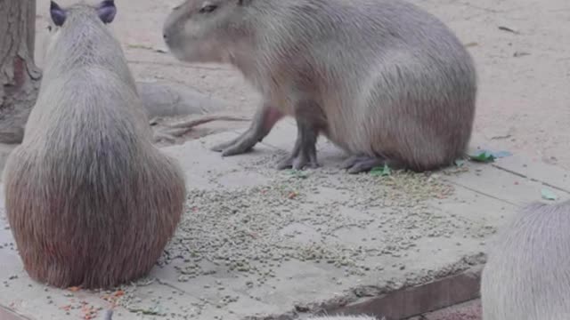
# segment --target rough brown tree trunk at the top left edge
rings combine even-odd
[[[0,142],[20,143],[37,99],[36,0],[0,0]]]

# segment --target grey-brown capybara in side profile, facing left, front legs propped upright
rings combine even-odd
[[[186,0],[164,38],[179,60],[224,62],[263,96],[248,131],[215,146],[248,152],[282,116],[297,120],[278,168],[319,166],[324,134],[348,172],[382,164],[435,170],[463,156],[476,68],[443,22],[401,0]]]

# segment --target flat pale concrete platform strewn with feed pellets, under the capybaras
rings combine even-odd
[[[278,172],[296,136],[290,121],[248,155],[209,151],[237,134],[163,149],[186,172],[187,212],[151,275],[117,291],[31,281],[3,220],[0,305],[42,320],[97,318],[113,304],[114,319],[126,320],[415,316],[476,298],[478,281],[461,275],[485,262],[485,242],[518,206],[541,200],[542,188],[570,196],[566,171],[516,157],[433,174],[349,175],[324,139],[322,168]],[[450,280],[461,277],[466,285]],[[434,292],[443,293],[421,298]],[[403,298],[379,308],[387,296]]]

